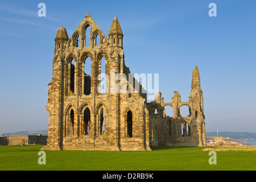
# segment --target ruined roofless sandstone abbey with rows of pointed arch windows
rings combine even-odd
[[[117,17],[108,37],[87,14],[68,38],[59,27],[48,87],[47,145],[42,150],[151,150],[159,146],[205,146],[203,92],[197,67],[188,102],[147,93],[125,64]],[[128,61],[129,63],[129,61]],[[118,75],[119,79],[116,79]],[[105,77],[104,77],[105,76]],[[104,82],[104,89],[103,83]],[[122,84],[120,84],[122,82]],[[186,105],[189,115],[180,115]],[[167,117],[165,106],[174,109]]]

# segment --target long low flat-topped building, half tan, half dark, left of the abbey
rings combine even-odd
[[[38,135],[10,135],[9,146],[16,144],[47,144],[47,136]]]

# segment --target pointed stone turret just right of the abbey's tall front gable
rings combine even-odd
[[[109,40],[110,40],[110,47],[117,46],[123,47],[123,32],[121,26],[118,22],[117,16],[115,16],[110,30],[109,30]]]

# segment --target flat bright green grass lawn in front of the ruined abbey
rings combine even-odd
[[[216,151],[210,165],[204,147],[162,147],[153,151],[45,151],[46,164],[38,164],[41,145],[0,146],[0,171],[255,171],[255,151]]]

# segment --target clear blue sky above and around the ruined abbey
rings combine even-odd
[[[38,4],[46,4],[46,17]],[[209,3],[217,16],[210,17]],[[0,133],[48,129],[47,84],[54,38],[68,36],[87,13],[108,36],[118,17],[125,63],[159,73],[165,102],[188,101],[199,68],[207,131],[256,129],[256,1],[0,1]]]

